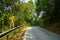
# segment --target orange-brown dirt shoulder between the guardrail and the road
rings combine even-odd
[[[13,36],[10,40],[21,40],[27,27],[28,27],[27,25],[21,27],[20,31],[15,36]]]

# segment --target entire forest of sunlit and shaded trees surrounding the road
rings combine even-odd
[[[12,17],[10,19],[10,17]],[[0,0],[0,33],[22,24],[60,34],[60,0]]]

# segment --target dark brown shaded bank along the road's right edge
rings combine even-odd
[[[57,23],[47,24],[44,28],[56,34],[60,34],[60,25]]]

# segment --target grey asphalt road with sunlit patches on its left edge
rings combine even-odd
[[[49,32],[38,26],[31,26],[26,29],[22,40],[60,40],[60,35]]]

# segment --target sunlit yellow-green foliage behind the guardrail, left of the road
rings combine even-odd
[[[15,26],[32,23],[33,10],[35,10],[35,4],[32,0],[27,3],[20,0],[0,0],[0,29],[3,29],[3,32],[10,29],[9,17],[12,15],[15,16]]]

